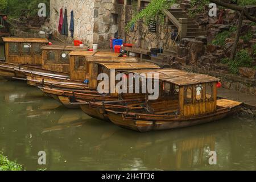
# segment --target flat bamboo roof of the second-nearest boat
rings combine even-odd
[[[158,65],[153,63],[98,63],[108,69],[158,69]]]

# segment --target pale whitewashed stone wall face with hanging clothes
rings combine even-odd
[[[71,11],[74,11],[74,22],[75,22],[75,32],[74,39],[82,40],[85,44],[93,43],[93,24],[94,24],[94,0],[51,0],[50,1],[50,22],[49,26],[53,30],[55,36],[60,37],[61,39],[72,42],[70,36],[61,36],[57,31],[60,18],[60,9],[63,8],[68,10],[68,26],[70,24],[70,14]]]

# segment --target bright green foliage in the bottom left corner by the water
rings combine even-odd
[[[22,171],[23,167],[20,164],[11,162],[0,153],[0,171]]]

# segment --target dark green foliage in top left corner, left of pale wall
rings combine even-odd
[[[6,1],[7,5],[3,9],[3,13],[13,18],[20,16],[34,17],[38,15],[39,3],[46,3],[47,13],[49,13],[49,0],[0,0]]]

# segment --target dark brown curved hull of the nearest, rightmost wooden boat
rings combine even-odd
[[[218,121],[237,113],[240,108],[241,105],[238,105],[236,107],[232,107],[231,109],[220,109],[215,113],[204,116],[175,118],[167,117],[166,119],[164,119],[164,117],[162,119],[157,119],[156,117],[150,116],[140,118],[139,115],[115,113],[115,111],[107,111],[107,113],[110,121],[112,121],[115,125],[143,133],[148,131],[177,129],[181,127],[189,127]]]

